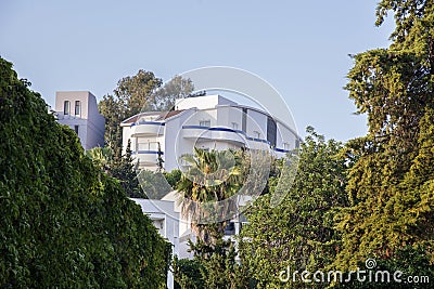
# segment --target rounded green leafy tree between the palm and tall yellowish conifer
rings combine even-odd
[[[342,145],[326,141],[311,128],[296,155],[279,160],[280,173],[269,182],[270,193],[259,197],[245,213],[248,224],[240,234],[242,265],[258,288],[312,288],[315,284],[281,284],[279,273],[324,268],[333,260],[340,236],[333,229],[336,209],[347,205],[345,194],[346,160],[340,157]],[[285,166],[298,166],[291,189],[281,203],[270,206],[280,182],[292,182]],[[283,185],[285,189],[289,184]]]

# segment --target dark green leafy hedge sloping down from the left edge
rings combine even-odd
[[[165,288],[170,246],[0,58],[0,287]]]

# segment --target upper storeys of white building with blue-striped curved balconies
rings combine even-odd
[[[131,142],[139,169],[181,169],[180,157],[194,147],[267,149],[277,157],[294,149],[299,136],[266,111],[239,105],[221,95],[176,101],[175,110],[149,111],[124,120],[123,147]]]

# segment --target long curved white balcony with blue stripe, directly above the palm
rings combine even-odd
[[[221,127],[183,126],[182,136],[191,140],[225,141],[242,145],[246,143],[243,131]]]

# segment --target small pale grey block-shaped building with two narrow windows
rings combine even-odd
[[[105,119],[100,115],[92,93],[58,91],[54,111],[59,123],[75,130],[85,149],[104,146]]]

